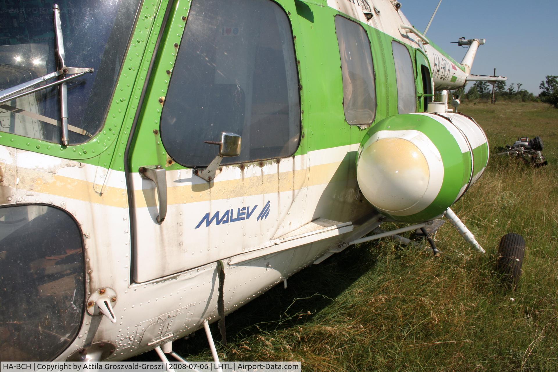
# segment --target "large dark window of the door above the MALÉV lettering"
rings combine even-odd
[[[221,132],[242,136],[223,163],[286,157],[300,141],[290,22],[269,0],[194,0],[161,114],[161,139],[181,165],[207,166]]]

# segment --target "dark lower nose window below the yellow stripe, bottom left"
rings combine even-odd
[[[0,360],[54,359],[84,304],[80,229],[51,206],[0,208]]]

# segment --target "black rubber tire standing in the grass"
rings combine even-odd
[[[503,274],[513,287],[517,286],[519,277],[521,277],[523,258],[525,258],[525,239],[523,239],[523,236],[515,233],[502,236],[498,248],[496,269]]]

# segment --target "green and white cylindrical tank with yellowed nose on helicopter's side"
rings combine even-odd
[[[357,180],[382,214],[420,222],[439,216],[482,175],[488,163],[483,129],[462,114],[395,115],[368,129]]]

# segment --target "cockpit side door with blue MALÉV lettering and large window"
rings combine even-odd
[[[306,151],[281,6],[180,0],[150,79],[127,159],[134,282],[261,249],[300,227]],[[207,181],[196,173],[219,146],[205,141],[222,132],[242,137],[240,155]]]

